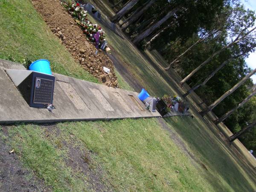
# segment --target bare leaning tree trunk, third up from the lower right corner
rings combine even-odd
[[[213,102],[212,105],[210,105],[207,109],[201,111],[200,114],[204,116],[207,112],[212,111],[213,108],[215,108],[227,96],[233,93],[238,87],[244,84],[244,82],[247,81],[247,79],[249,79],[250,76],[252,76],[254,73],[256,73],[256,68],[252,72],[250,72],[247,76],[245,76],[241,81],[239,81],[234,87],[232,87],[230,90],[224,93],[219,99]]]

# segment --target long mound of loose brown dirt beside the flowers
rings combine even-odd
[[[33,0],[33,6],[41,14],[52,32],[60,38],[73,57],[81,66],[97,77],[105,85],[118,87],[112,61],[99,49],[96,55],[95,45],[87,41],[86,35],[75,23],[73,17],[61,6],[58,0]],[[103,67],[111,70],[104,72]]]

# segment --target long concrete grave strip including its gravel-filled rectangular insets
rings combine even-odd
[[[42,80],[49,78],[55,78],[54,87]],[[39,83],[38,79],[41,79]],[[25,70],[20,64],[10,61],[0,60],[0,80],[0,123],[3,124],[160,117],[157,111],[146,110],[143,102],[137,97],[139,93],[58,73],[40,76],[38,72]],[[53,98],[51,101],[47,100],[48,105],[40,100],[38,105],[32,106],[22,94],[20,84],[24,90],[28,90],[28,98],[32,98],[32,102],[35,102],[33,96],[36,89],[38,98]],[[42,88],[47,92],[42,92]],[[52,110],[47,109],[49,104],[54,106]]]

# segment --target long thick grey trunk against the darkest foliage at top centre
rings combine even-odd
[[[148,35],[150,35],[155,29],[157,29],[157,27],[159,27],[160,25],[162,25],[164,22],[166,22],[166,20],[168,20],[173,14],[175,14],[175,12],[177,12],[179,10],[179,8],[175,8],[172,9],[172,11],[170,11],[166,16],[164,16],[161,20],[159,20],[158,22],[156,22],[155,24],[153,24],[153,26],[149,27],[147,30],[145,30],[144,32],[142,32],[140,35],[138,35],[132,42],[137,45],[140,43],[140,41],[142,41],[143,39],[145,39],[146,37],[148,37]]]

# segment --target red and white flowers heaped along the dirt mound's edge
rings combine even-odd
[[[87,19],[87,11],[84,11],[84,8],[80,6],[79,3],[62,3],[61,5],[64,6],[64,8],[67,9],[67,11],[72,15],[72,17],[76,20],[79,21],[77,22],[80,24],[84,34],[87,35],[87,39],[96,42],[96,45],[98,46],[102,44],[103,41],[105,41],[105,32],[102,30],[100,26],[97,24],[91,23]]]

